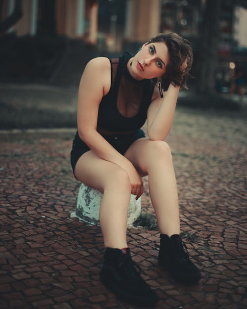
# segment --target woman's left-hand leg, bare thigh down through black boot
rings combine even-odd
[[[130,251],[126,248],[127,209],[130,198],[128,174],[120,166],[97,157],[88,151],[79,159],[76,177],[88,186],[103,191],[100,224],[104,237],[104,263],[101,282],[118,297],[139,305],[152,305],[158,296],[133,267]]]

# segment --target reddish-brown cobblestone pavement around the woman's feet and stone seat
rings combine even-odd
[[[70,218],[80,183],[70,169],[74,130],[0,134],[0,308],[134,309],[99,281],[98,226]],[[247,308],[246,127],[241,114],[178,108],[167,137],[181,228],[202,270],[175,282],[158,263],[159,232],[127,231],[133,260],[159,294],[157,309]],[[153,213],[147,192],[144,210]]]

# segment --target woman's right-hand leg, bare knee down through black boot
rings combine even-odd
[[[183,250],[180,234],[176,179],[169,146],[160,140],[138,139],[125,156],[139,173],[149,177],[150,197],[161,232],[159,264],[180,282],[194,283],[201,279],[200,270]]]

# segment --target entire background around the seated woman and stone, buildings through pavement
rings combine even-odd
[[[246,25],[247,0],[0,0],[1,309],[136,308],[100,283],[100,227],[71,217],[77,93],[91,58],[173,31],[195,61],[165,140],[202,279],[183,286],[158,266],[147,177],[128,245],[157,309],[247,308]]]

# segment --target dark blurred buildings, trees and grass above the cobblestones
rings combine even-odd
[[[88,60],[134,54],[155,34],[172,31],[191,42],[195,58],[190,91],[181,91],[178,104],[245,113],[246,23],[246,0],[1,0],[0,129],[75,127]],[[73,117],[57,122],[64,105]],[[35,119],[40,109],[47,121]],[[18,121],[10,116],[16,114]]]

